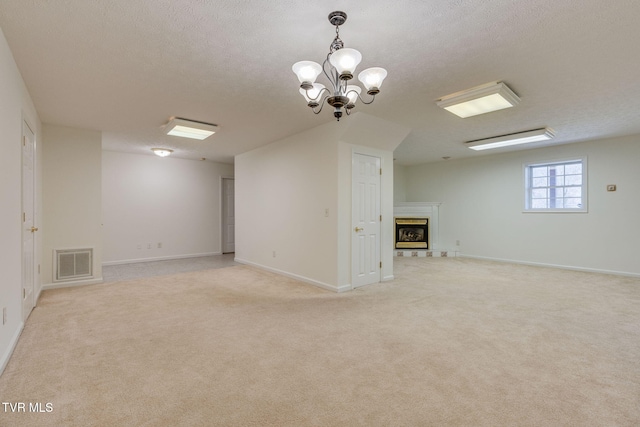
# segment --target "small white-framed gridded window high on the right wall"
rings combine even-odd
[[[586,169],[586,159],[526,164],[525,211],[586,212]]]

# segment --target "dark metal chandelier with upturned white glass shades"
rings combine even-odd
[[[363,104],[371,104],[378,93],[382,81],[387,77],[387,70],[380,67],[367,68],[358,74],[358,80],[371,96],[371,100],[365,101],[360,96],[362,89],[358,85],[348,84],[353,79],[356,67],[362,60],[362,55],[355,49],[345,48],[340,40],[340,25],[347,20],[347,14],[336,11],[329,14],[329,22],[336,27],[336,38],[333,39],[329,47],[327,59],[322,66],[313,61],[300,61],[293,64],[291,69],[298,76],[300,81],[300,93],[307,101],[307,106],[315,114],[322,111],[322,107],[327,104],[333,107],[333,115],[339,121],[342,117],[342,109],[349,115],[356,106],[359,99]],[[321,83],[316,83],[320,75],[324,75],[329,80],[331,87],[327,88]],[[318,108],[319,107],[319,108]]]

